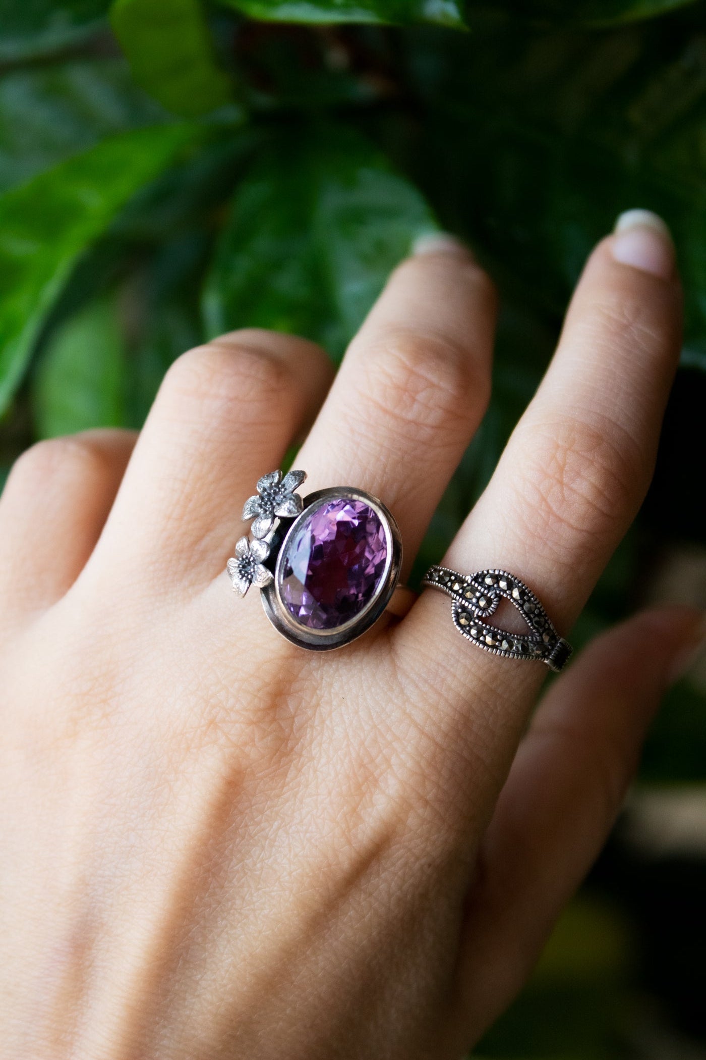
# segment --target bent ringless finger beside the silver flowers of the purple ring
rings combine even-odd
[[[147,585],[202,585],[245,529],[245,499],[313,419],[332,368],[318,346],[233,332],[167,372],[95,553],[117,552]],[[125,527],[129,543],[125,543]],[[127,553],[127,554],[126,554]]]

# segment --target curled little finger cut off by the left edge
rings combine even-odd
[[[39,442],[0,497],[0,597],[21,622],[70,588],[87,563],[137,435],[87,430]]]

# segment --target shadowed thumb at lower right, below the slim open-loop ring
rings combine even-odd
[[[662,692],[703,635],[691,608],[637,615],[591,644],[537,711],[469,898],[460,978],[474,1038],[518,992],[598,854]]]

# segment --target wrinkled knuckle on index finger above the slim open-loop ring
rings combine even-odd
[[[522,448],[528,461],[522,489],[544,542],[563,545],[567,532],[577,532],[599,545],[644,492],[644,457],[614,423],[544,423]]]

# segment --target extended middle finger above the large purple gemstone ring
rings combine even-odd
[[[350,343],[297,457],[314,489],[380,497],[408,565],[486,409],[494,318],[492,285],[460,244],[419,244]]]

